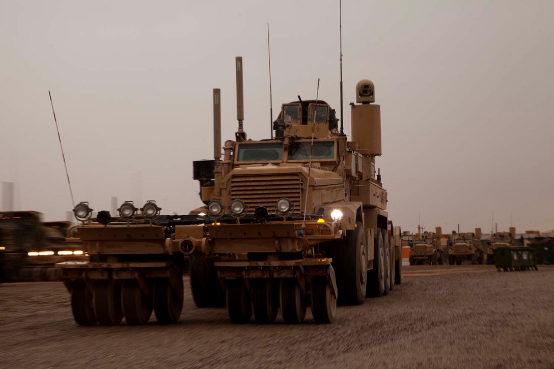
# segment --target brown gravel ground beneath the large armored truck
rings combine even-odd
[[[331,325],[232,325],[185,287],[178,324],[79,327],[63,284],[0,285],[0,367],[554,367],[554,267],[408,266]]]

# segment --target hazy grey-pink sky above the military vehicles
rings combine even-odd
[[[554,227],[554,1],[343,1],[348,102],[369,78],[381,104],[391,218],[414,230]],[[64,219],[110,197],[164,213],[201,204],[192,161],[211,158],[212,89],[223,142],[236,130],[234,57],[244,57],[244,127],[319,96],[339,110],[336,1],[0,0],[0,181],[18,209]],[[141,184],[139,184],[141,183]]]

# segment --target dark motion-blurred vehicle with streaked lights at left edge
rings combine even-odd
[[[69,222],[42,222],[33,211],[0,212],[0,281],[59,280],[54,264],[86,260],[79,243],[66,243]]]

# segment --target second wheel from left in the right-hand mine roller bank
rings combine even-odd
[[[272,279],[252,279],[250,281],[254,320],[258,324],[275,321],[279,311],[279,283]]]

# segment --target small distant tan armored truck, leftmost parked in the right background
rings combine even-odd
[[[446,244],[442,242],[442,229],[435,228],[435,232],[423,232],[414,241],[410,249],[409,263],[442,265],[446,260]]]

